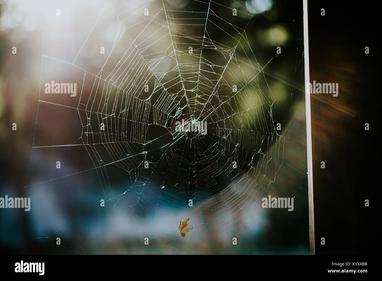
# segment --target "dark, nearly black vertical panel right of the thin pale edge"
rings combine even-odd
[[[380,249],[380,16],[350,3],[308,1],[310,81],[339,83],[338,97],[311,95],[316,254]]]

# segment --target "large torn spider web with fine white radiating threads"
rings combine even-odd
[[[33,147],[80,146],[92,166],[27,186],[95,171],[100,199],[112,206],[104,217],[117,214],[142,243],[148,237],[180,253],[203,237],[227,247],[233,237],[240,241],[257,231],[261,198],[283,165],[288,137],[277,130],[275,105],[282,102],[278,110],[289,113],[293,94],[280,97],[268,83],[277,76],[267,70],[277,60],[275,48],[272,55],[255,55],[256,9],[241,1],[189,4],[106,1],[73,61],[43,54],[42,85],[51,80],[45,75],[54,62],[75,68],[80,87],[76,97],[60,98],[40,89],[39,107],[78,114],[82,131],[71,143],[40,145],[35,139]],[[84,57],[92,38],[110,34],[99,21],[105,14],[117,32],[97,69]],[[301,60],[296,52],[295,71]],[[181,120],[206,121],[207,134],[176,131]],[[116,176],[128,183],[116,187]],[[193,230],[186,238],[166,235],[188,217]],[[163,230],[165,223],[171,228]]]

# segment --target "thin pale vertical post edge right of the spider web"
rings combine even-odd
[[[309,87],[309,41],[308,41],[308,0],[303,0],[304,8],[304,61],[305,86]],[[312,126],[310,111],[310,89],[305,89],[306,113],[306,150],[308,154],[308,197],[309,197],[309,246],[310,254],[315,255],[314,247],[314,208],[313,208],[313,163],[312,163]],[[307,93],[308,92],[308,93]]]

